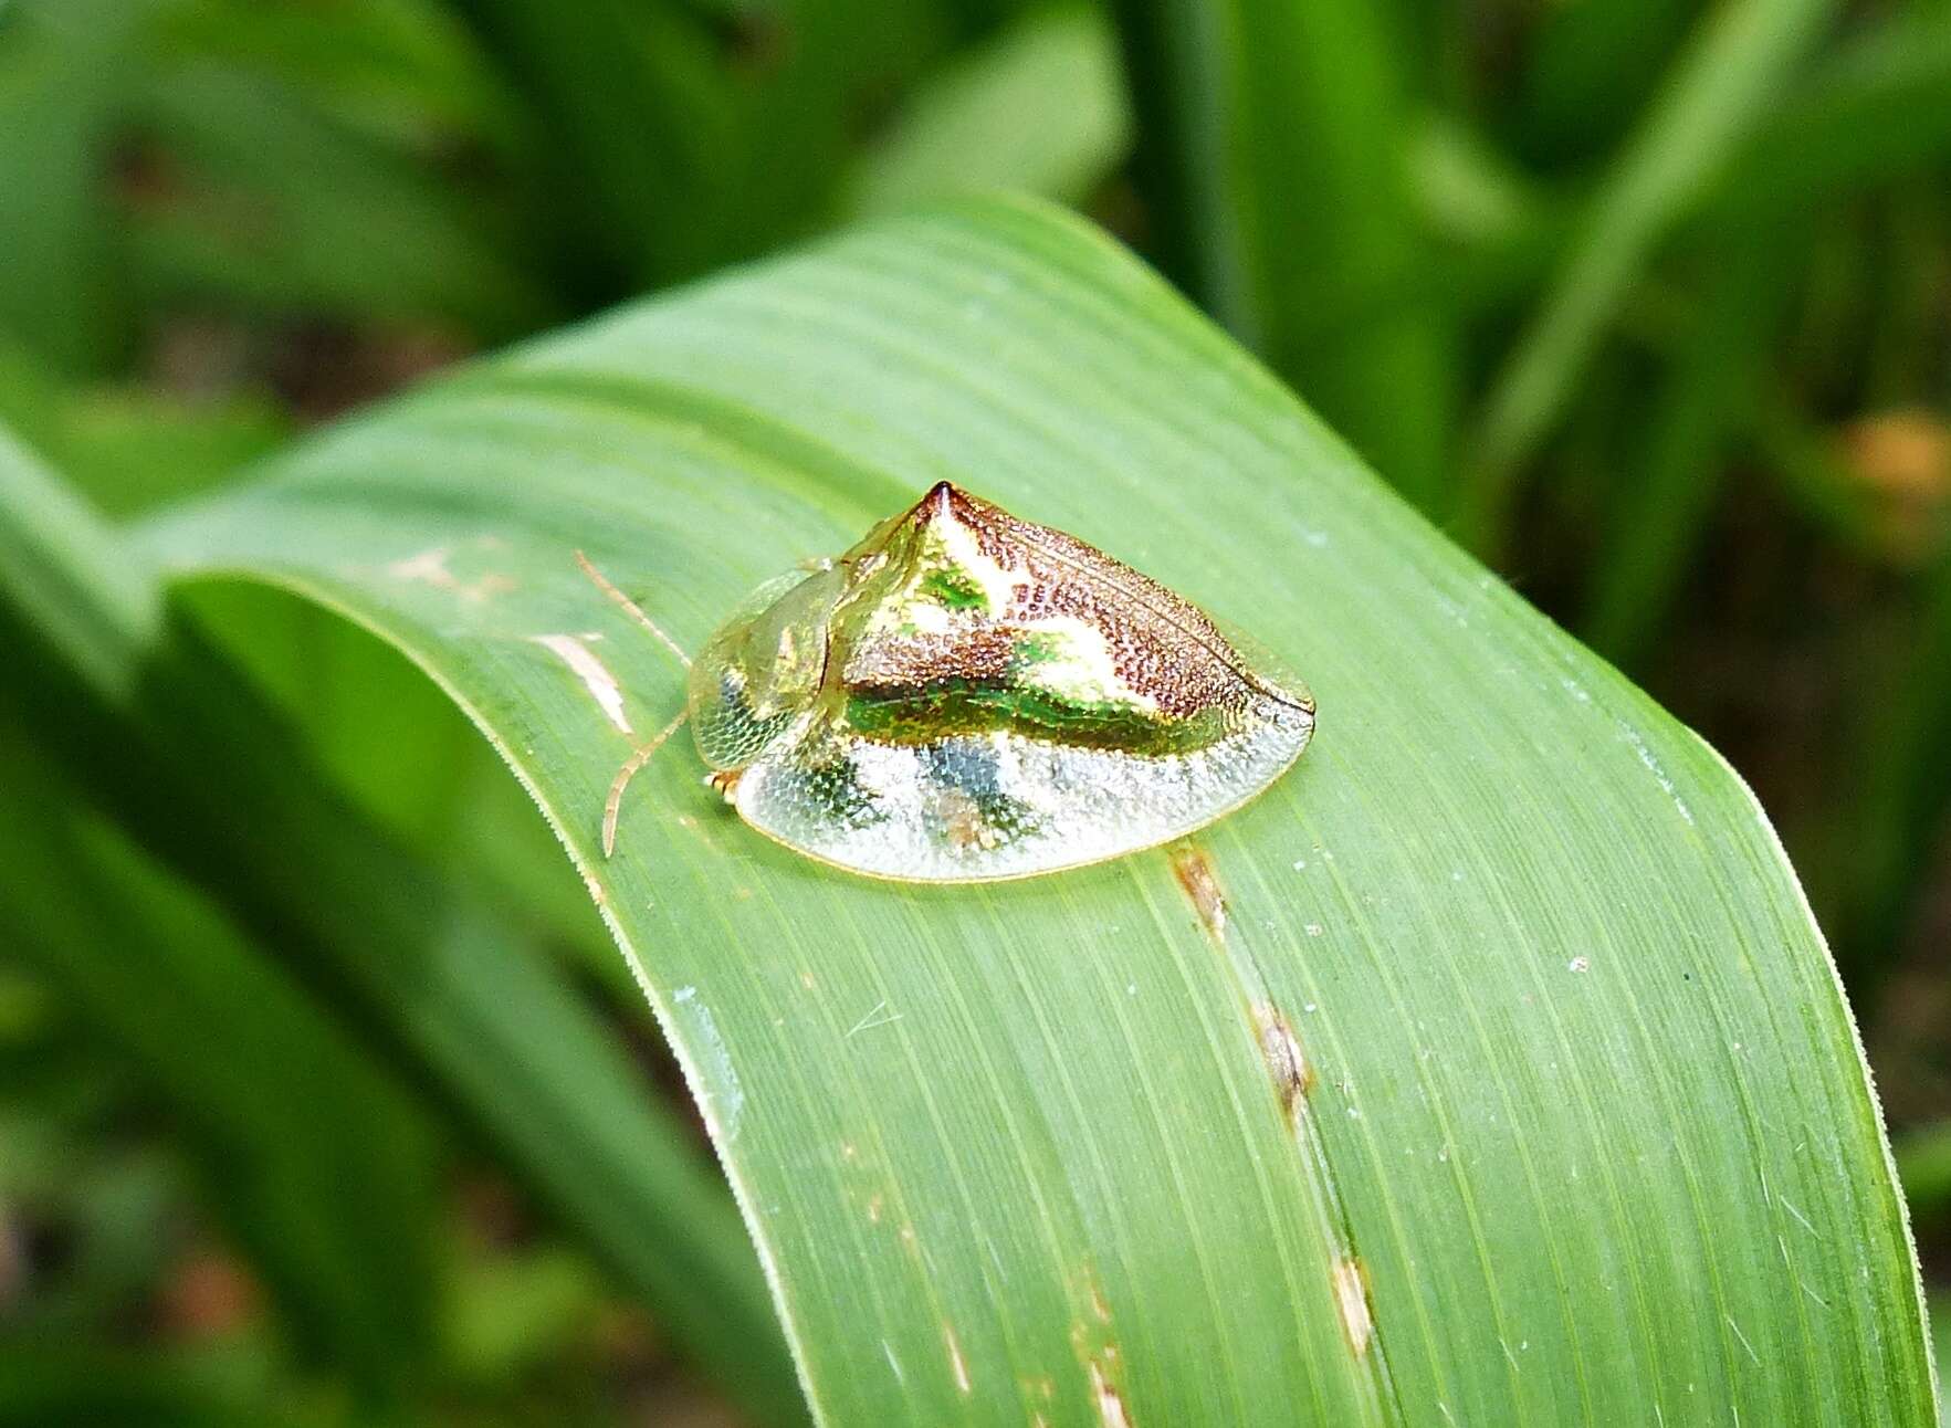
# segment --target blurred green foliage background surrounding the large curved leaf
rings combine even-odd
[[[1945,0],[0,0],[0,423],[137,515],[851,218],[1073,203],[1750,780],[1943,1282],[1947,179]],[[671,1122],[642,1133],[710,1194],[474,735],[363,636],[238,618],[291,622],[263,689],[429,886],[519,909],[589,1065],[634,1061]],[[0,722],[0,1420],[765,1416],[466,1067],[314,999],[103,825],[51,835],[47,776]],[[88,956],[158,921],[174,1003]]]

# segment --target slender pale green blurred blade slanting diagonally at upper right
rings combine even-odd
[[[1524,464],[1551,433],[1654,246],[1779,101],[1834,10],[1834,0],[1723,0],[1688,43],[1493,378],[1461,492],[1467,542],[1487,546],[1500,536]]]

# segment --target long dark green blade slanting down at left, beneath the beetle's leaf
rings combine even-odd
[[[736,1215],[617,1038],[355,813],[154,574],[0,435],[0,712],[152,856],[341,1003],[761,1422],[798,1393]]]

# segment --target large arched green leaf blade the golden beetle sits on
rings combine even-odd
[[[1219,934],[1167,853],[825,870],[675,745],[601,856],[683,679],[572,552],[697,648],[938,478],[1313,685],[1301,767],[1198,841]],[[825,1422],[1931,1420],[1877,1108],[1752,796],[1075,220],[968,205],[626,310],[152,538],[392,640],[529,786]]]

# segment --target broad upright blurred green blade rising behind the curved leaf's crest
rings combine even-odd
[[[1409,195],[1397,47],[1366,0],[1124,0],[1167,267],[1405,494],[1444,503],[1455,373]]]

